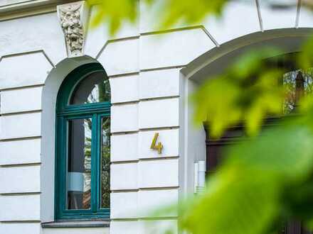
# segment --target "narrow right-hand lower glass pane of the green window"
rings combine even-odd
[[[110,118],[101,121],[101,208],[110,207]]]

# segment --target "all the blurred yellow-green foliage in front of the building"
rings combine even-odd
[[[219,16],[226,2],[162,1],[159,25],[198,23],[208,15]],[[100,11],[93,18],[94,25],[107,21],[111,33],[124,21],[136,21],[139,14],[138,1],[97,3]],[[90,4],[95,1],[90,0]],[[161,209],[157,216],[178,208],[179,228],[193,234],[277,233],[279,223],[290,220],[302,221],[313,230],[313,96],[301,96],[295,113],[283,116],[285,88],[294,84],[284,87],[282,78],[287,71],[268,65],[281,53],[277,48],[246,52],[223,74],[208,77],[191,96],[196,123],[206,122],[213,138],[238,123],[244,124],[247,135],[228,148],[203,194],[181,201],[179,207]],[[312,58],[311,37],[294,62],[307,70],[313,67]],[[269,116],[280,117],[277,125],[261,130]]]

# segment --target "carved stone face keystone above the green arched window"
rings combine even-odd
[[[85,30],[87,25],[87,6],[85,1],[77,1],[58,6],[60,20],[68,57],[83,55]]]

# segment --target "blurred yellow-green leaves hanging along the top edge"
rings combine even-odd
[[[92,18],[92,26],[100,23],[109,24],[110,33],[120,29],[122,23],[134,23],[139,17],[139,1],[137,0],[88,0],[88,4],[97,5],[97,13]],[[149,7],[158,6],[157,25],[159,29],[166,29],[175,23],[193,25],[201,22],[207,16],[219,16],[228,0],[142,0],[140,4]]]

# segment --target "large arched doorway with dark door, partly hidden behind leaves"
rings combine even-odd
[[[255,33],[254,35],[246,35],[243,38],[238,38],[225,45],[221,45],[221,48],[216,48],[206,54],[201,55],[196,60],[191,62],[186,68],[182,69],[182,75],[185,85],[185,95],[189,96],[194,89],[196,89],[201,83],[206,79],[211,79],[216,74],[223,72],[224,69],[228,67],[236,57],[243,54],[243,52],[253,49],[261,48],[264,46],[276,46],[282,50],[277,57],[282,57],[285,54],[295,53],[300,50],[301,43],[307,38],[308,30],[303,29],[295,32],[295,30],[273,30],[271,32],[261,35],[260,33]],[[266,59],[266,57],[264,58]],[[287,66],[287,65],[285,65]],[[290,67],[287,74],[285,74],[285,82],[288,81],[292,83],[292,87],[297,87],[299,83],[302,82],[299,87],[304,87],[304,77],[303,72],[299,71],[297,67]],[[302,76],[302,77],[301,77]],[[298,90],[300,91],[300,90]],[[297,99],[297,90],[294,91],[294,98]],[[296,100],[289,100],[290,111],[296,104]],[[193,189],[193,174],[194,167],[193,162],[199,160],[206,161],[207,174],[214,173],[216,171],[216,166],[221,160],[221,151],[226,145],[233,144],[240,139],[243,133],[243,126],[233,126],[230,128],[221,140],[213,141],[210,138],[208,132],[205,128],[194,128],[193,127],[193,115],[192,106],[187,103],[184,111],[184,191],[190,192]],[[275,120],[268,119],[265,123],[270,125],[275,123]],[[201,147],[206,145],[206,150],[201,150]],[[199,150],[200,149],[200,150]],[[308,234],[306,230],[302,228],[301,222],[291,221],[290,223],[282,223],[281,232],[288,234]]]

